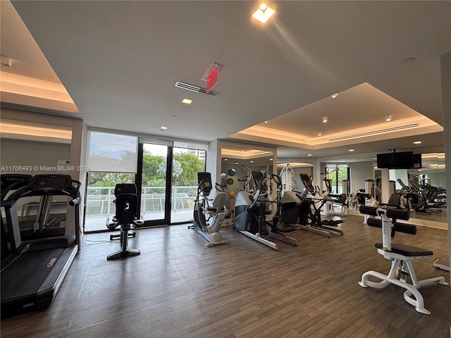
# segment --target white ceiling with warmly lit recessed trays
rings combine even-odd
[[[272,4],[276,16],[261,25],[250,18],[257,1],[1,1],[1,54],[13,60],[1,65],[2,104],[113,130],[273,144],[279,158],[443,151],[439,57],[451,51],[451,1]],[[218,96],[174,87],[205,87],[213,62],[224,65]],[[36,86],[5,74],[60,98],[36,99]],[[27,90],[7,90],[18,86]],[[420,126],[330,142],[409,121]]]

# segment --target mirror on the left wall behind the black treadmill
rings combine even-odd
[[[72,127],[6,118],[0,120],[0,127],[2,175],[70,172]],[[16,210],[20,232],[25,239],[66,232],[68,208],[65,196],[51,199],[25,197],[17,201]]]

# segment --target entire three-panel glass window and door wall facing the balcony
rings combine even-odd
[[[143,227],[190,222],[205,159],[206,144],[90,131],[85,232],[106,231],[107,218],[116,213],[117,183],[137,185]]]

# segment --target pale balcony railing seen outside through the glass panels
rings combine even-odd
[[[141,214],[161,213],[166,202],[166,187],[142,187]],[[192,210],[197,187],[173,187],[172,211]],[[86,217],[116,213],[114,187],[87,187]]]

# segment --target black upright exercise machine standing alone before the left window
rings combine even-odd
[[[121,250],[106,256],[107,261],[128,256],[137,256],[141,253],[137,249],[128,249],[128,237],[135,237],[135,232],[129,234],[129,231],[133,230],[135,225],[144,224],[142,218],[137,218],[138,196],[136,185],[133,183],[118,183],[114,188],[114,196],[116,196],[114,200],[116,204],[116,215],[111,219],[106,219],[106,227],[110,230],[121,227],[119,236],[111,235],[110,237],[110,239],[117,237],[121,239]]]

